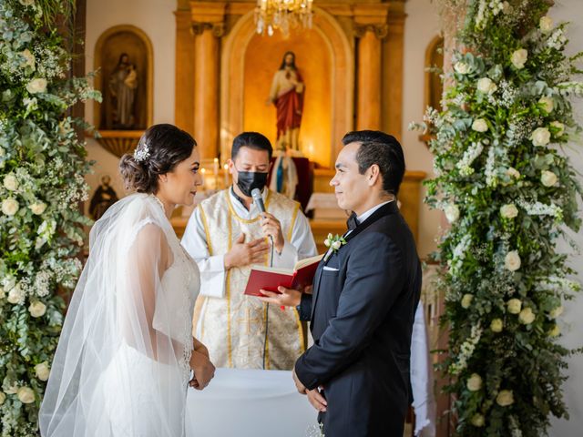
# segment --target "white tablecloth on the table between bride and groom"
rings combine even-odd
[[[292,371],[217,369],[204,391],[188,392],[188,437],[315,435],[317,412]]]

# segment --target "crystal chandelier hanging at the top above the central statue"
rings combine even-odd
[[[279,29],[283,37],[290,36],[290,29],[302,26],[312,28],[313,0],[257,0],[255,24],[257,33],[272,36]]]

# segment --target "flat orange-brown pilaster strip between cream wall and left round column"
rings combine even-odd
[[[194,135],[194,34],[188,9],[179,9],[176,16],[176,88],[174,94],[174,124]]]

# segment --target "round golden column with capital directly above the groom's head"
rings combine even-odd
[[[381,128],[381,39],[386,36],[387,4],[354,6],[358,42],[356,128]]]

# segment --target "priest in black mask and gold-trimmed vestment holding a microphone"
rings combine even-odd
[[[270,306],[243,294],[253,264],[292,269],[316,255],[300,204],[266,188],[272,147],[257,132],[233,140],[233,185],[195,209],[182,245],[200,269],[199,340],[217,367],[291,370],[305,351],[296,309]],[[259,188],[266,212],[251,198]]]

